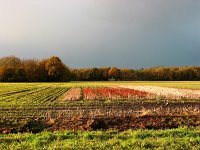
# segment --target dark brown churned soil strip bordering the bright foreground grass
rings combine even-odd
[[[108,130],[127,129],[167,129],[180,126],[200,126],[200,116],[142,116],[114,118],[63,118],[59,120],[21,120],[23,123],[15,127],[0,127],[0,133],[32,132],[62,130]]]

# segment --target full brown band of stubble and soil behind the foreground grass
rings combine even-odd
[[[0,112],[0,133],[66,129],[164,129],[200,125],[199,102],[0,108]],[[6,117],[4,113],[9,115]]]

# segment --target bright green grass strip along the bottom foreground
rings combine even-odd
[[[199,128],[0,135],[0,149],[200,149]]]

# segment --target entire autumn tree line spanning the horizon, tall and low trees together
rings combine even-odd
[[[117,67],[73,69],[59,57],[48,59],[0,58],[1,82],[66,82],[66,81],[198,81],[199,66],[154,67],[129,69]]]

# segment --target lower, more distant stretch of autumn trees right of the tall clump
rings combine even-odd
[[[154,67],[146,69],[86,68],[72,69],[76,81],[198,81],[200,67]]]

